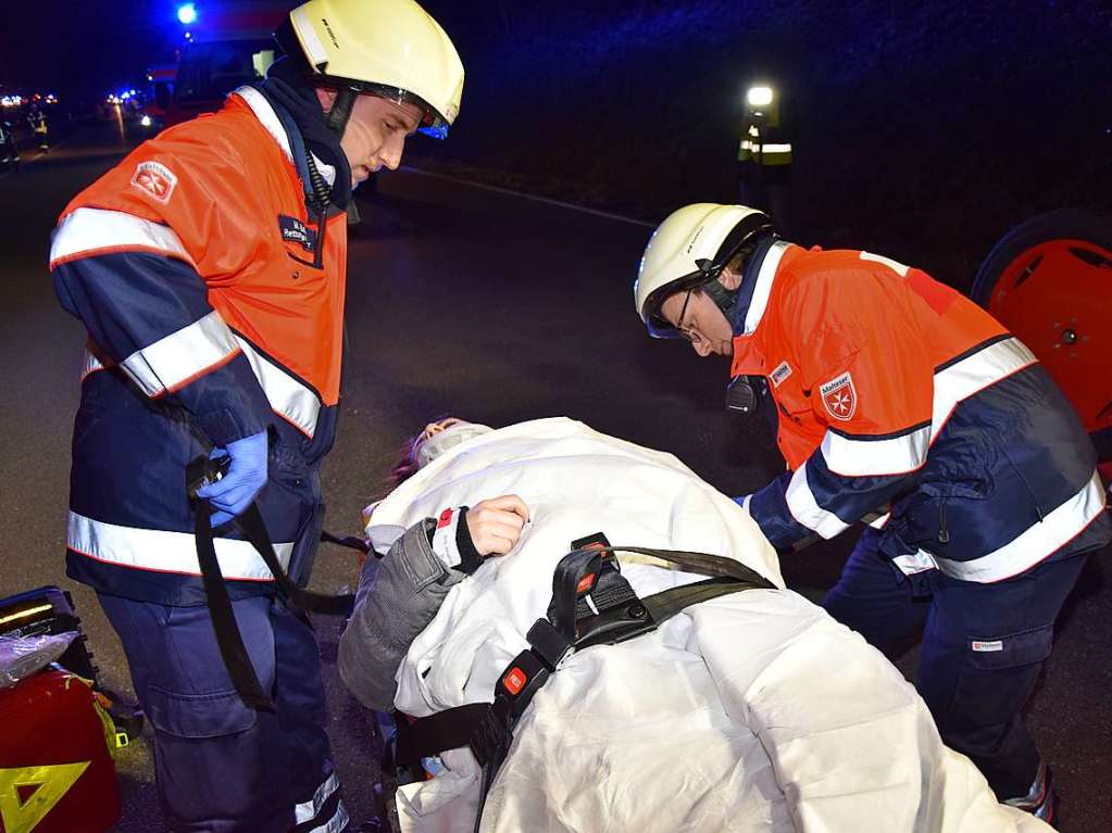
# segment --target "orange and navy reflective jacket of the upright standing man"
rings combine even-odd
[[[72,578],[202,603],[185,466],[264,430],[260,509],[279,558],[306,578],[339,400],[347,225],[334,210],[321,229],[308,210],[302,147],[280,108],[242,88],[141,144],[62,212],[50,268],[89,332]],[[249,544],[216,546],[225,575],[244,582],[232,595],[270,591]]]

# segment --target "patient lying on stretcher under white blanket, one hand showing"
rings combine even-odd
[[[423,719],[489,703],[549,614],[573,542],[711,553],[765,589],[566,655],[487,785],[485,833],[1049,831],[996,802],[942,744],[900,672],[784,589],[747,513],[675,456],[573,420],[429,425],[374,506],[339,670],[367,706]],[[465,509],[465,508],[470,509]],[[644,600],[705,575],[618,553]],[[397,794],[404,831],[469,833],[483,773],[466,742]]]

